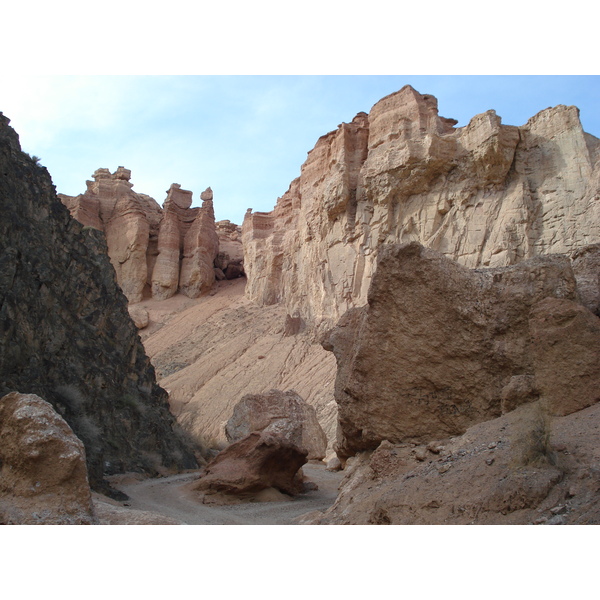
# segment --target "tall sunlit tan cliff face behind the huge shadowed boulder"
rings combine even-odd
[[[383,244],[475,268],[600,240],[600,140],[576,107],[455,124],[406,86],[321,137],[274,210],[246,214],[247,296],[332,323],[365,304]]]

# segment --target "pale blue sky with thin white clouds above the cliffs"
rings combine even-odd
[[[59,192],[76,195],[95,169],[132,171],[159,203],[171,183],[211,186],[217,219],[271,210],[317,139],[411,84],[466,125],[494,109],[522,125],[548,106],[574,104],[600,137],[600,76],[62,76],[0,81],[0,110],[23,149],[41,157]]]

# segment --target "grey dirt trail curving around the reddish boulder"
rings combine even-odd
[[[199,504],[183,490],[185,484],[197,478],[197,473],[114,485],[129,496],[126,505],[131,509],[158,513],[186,525],[287,525],[300,515],[329,508],[336,499],[337,488],[343,478],[343,473],[331,473],[324,464],[307,464],[303,471],[319,489],[286,502],[216,507]]]

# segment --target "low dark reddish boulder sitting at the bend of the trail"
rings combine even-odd
[[[239,499],[254,498],[268,488],[298,494],[303,491],[298,470],[306,455],[285,434],[254,432],[219,453],[192,489]]]

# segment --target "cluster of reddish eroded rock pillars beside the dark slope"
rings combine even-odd
[[[150,290],[165,300],[178,291],[196,298],[210,289],[219,251],[210,188],[201,194],[202,207],[192,208],[192,192],[174,183],[161,208],[131,189],[128,169],[98,169],[93,177],[84,194],[59,197],[80,223],[105,233],[117,282],[130,303]]]

